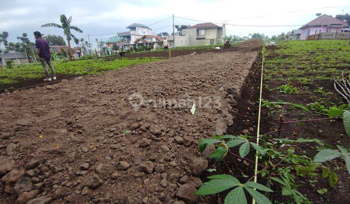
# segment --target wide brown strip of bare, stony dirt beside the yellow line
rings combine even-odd
[[[186,55],[2,94],[0,203],[205,203],[192,195],[208,166],[197,144],[233,123],[256,56]]]

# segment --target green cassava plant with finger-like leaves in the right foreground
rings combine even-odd
[[[273,134],[281,136],[282,128],[288,123],[312,122],[316,120],[334,119],[343,117],[344,127],[346,132],[350,133],[350,112],[347,110],[331,109],[328,113],[328,118],[284,121],[283,113],[286,106],[299,108],[310,112],[310,110],[300,104],[290,102],[266,102],[262,106],[279,106],[282,108],[280,115],[279,127],[262,135],[261,143],[258,145],[254,141],[257,137],[247,135],[232,136],[222,135],[213,136],[213,138],[202,139],[198,145],[199,151],[203,152],[208,145],[213,144],[215,151],[210,154],[210,158],[219,163],[227,154],[231,154],[239,159],[244,159],[247,162],[258,165],[259,169],[254,172],[246,182],[240,182],[236,177],[227,174],[213,175],[208,178],[210,181],[204,183],[196,192],[197,195],[210,195],[231,189],[225,198],[225,204],[237,203],[246,204],[245,191],[257,202],[257,204],[271,204],[268,199],[271,185],[279,184],[282,188],[281,194],[290,196],[297,204],[310,204],[310,201],[297,190],[300,185],[296,184],[295,175],[307,176],[313,178],[317,175],[316,169],[322,170],[322,178],[328,178],[331,187],[334,187],[338,181],[338,177],[330,168],[322,165],[322,163],[335,159],[337,157],[345,160],[348,172],[350,173],[350,153],[347,149],[337,145],[340,150],[325,149],[327,144],[316,138],[298,138],[296,140],[287,138],[272,138]],[[305,156],[297,151],[297,147],[306,148],[302,143],[316,143],[321,151],[319,151],[314,159]],[[245,158],[250,152],[250,147],[256,150],[256,156],[261,160],[256,163],[248,158]],[[239,154],[233,153],[232,148],[238,148]],[[316,151],[316,150],[313,150]],[[252,182],[255,176],[264,178],[265,184]],[[244,191],[245,189],[245,191]],[[263,195],[259,191],[264,191]],[[323,191],[322,191],[323,192]]]

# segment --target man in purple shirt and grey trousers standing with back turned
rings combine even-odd
[[[49,43],[46,40],[41,38],[41,33],[39,31],[35,31],[34,36],[35,36],[36,59],[40,60],[46,75],[46,79],[44,79],[44,81],[50,82],[52,79],[56,80],[56,74],[51,63],[51,53],[50,53]],[[50,77],[47,65],[51,69],[52,79]]]

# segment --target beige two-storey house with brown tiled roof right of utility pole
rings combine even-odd
[[[225,35],[225,25],[218,26],[213,23],[199,23],[183,29],[181,35],[175,35],[175,47],[216,45],[223,43]],[[169,35],[164,37],[169,41],[170,47],[173,47],[173,36]]]

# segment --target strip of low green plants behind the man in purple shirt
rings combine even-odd
[[[158,58],[115,59],[104,61],[102,59],[87,59],[70,62],[53,63],[56,74],[97,74],[107,70],[114,70],[128,65],[155,62]],[[45,76],[41,64],[23,64],[15,68],[0,68],[0,85],[16,83],[20,80],[40,78]]]

